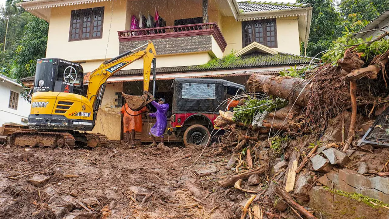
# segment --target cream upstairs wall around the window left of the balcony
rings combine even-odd
[[[103,37],[69,42],[72,10],[104,6]],[[71,61],[112,58],[119,55],[118,30],[126,28],[126,0],[104,1],[90,4],[55,7],[51,9],[46,57]],[[111,13],[111,8],[113,13]],[[111,23],[112,14],[112,23]],[[109,32],[110,30],[110,32]],[[107,53],[107,55],[105,55]]]

